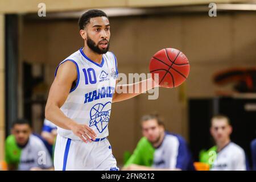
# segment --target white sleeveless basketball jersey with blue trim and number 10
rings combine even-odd
[[[60,64],[65,61],[72,61],[76,65],[77,81],[61,106],[61,111],[77,123],[88,125],[97,134],[96,138],[107,137],[112,97],[118,75],[114,54],[105,53],[101,64],[97,64],[80,48]],[[57,127],[57,133],[66,138],[80,140],[71,130]]]

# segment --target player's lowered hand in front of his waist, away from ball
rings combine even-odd
[[[96,133],[87,125],[73,124],[71,127],[72,132],[83,140],[85,143],[92,142],[92,139],[96,139]]]

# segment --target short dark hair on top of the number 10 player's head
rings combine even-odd
[[[106,13],[104,13],[104,11],[96,10],[96,9],[86,11],[79,18],[79,28],[80,28],[80,30],[84,30],[86,25],[90,22],[91,18],[95,18],[95,17],[99,17],[99,16],[100,17],[105,16],[106,18],[109,19],[108,15],[106,15]]]

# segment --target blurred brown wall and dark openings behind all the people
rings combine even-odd
[[[213,145],[214,114],[228,115],[232,140],[250,157],[256,138],[256,1],[218,0],[0,1],[0,161],[15,118],[27,118],[40,134],[57,64],[83,46],[78,19],[88,9],[110,17],[110,51],[119,73],[148,73],[151,56],[180,49],[191,64],[175,89],[160,88],[112,105],[109,140],[119,165],[141,138],[139,119],[158,112],[166,128],[182,135],[193,156]],[[39,17],[39,3],[46,16]]]

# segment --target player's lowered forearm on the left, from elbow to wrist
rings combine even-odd
[[[71,127],[76,124],[75,121],[66,117],[63,111],[61,111],[60,108],[56,105],[46,105],[45,113],[46,119],[63,129],[71,130]]]

